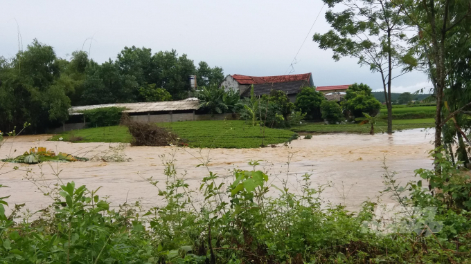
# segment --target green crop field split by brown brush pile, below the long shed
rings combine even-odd
[[[188,140],[190,147],[257,148],[262,144],[287,142],[294,134],[292,131],[283,129],[265,129],[264,136],[263,128],[250,126],[244,121],[187,121],[158,125],[170,129],[180,138]],[[55,135],[51,140],[58,140],[60,137],[65,141],[72,140],[74,142],[131,142],[132,140],[125,126],[70,131]]]

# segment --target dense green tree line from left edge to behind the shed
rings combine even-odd
[[[30,132],[44,132],[65,122],[71,106],[181,100],[190,91],[189,75],[197,75],[199,86],[224,79],[222,68],[195,65],[177,50],[125,47],[99,64],[83,50],[70,59],[57,57],[52,46],[35,39],[15,57],[0,57],[0,130],[27,120]]]

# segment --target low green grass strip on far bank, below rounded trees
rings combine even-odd
[[[393,120],[393,130],[405,129],[423,129],[434,126],[435,120],[433,118],[415,119],[415,120]],[[305,133],[370,133],[371,126],[364,124],[323,124],[323,123],[308,123],[304,126],[295,126],[291,129],[294,132]],[[386,131],[386,124],[375,126],[375,133]]]

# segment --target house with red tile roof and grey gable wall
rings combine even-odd
[[[296,95],[305,86],[314,86],[312,74],[296,75],[276,75],[276,76],[248,76],[248,75],[227,75],[221,87],[224,90],[238,91],[240,96],[249,97],[250,87],[254,86],[254,94],[257,96],[267,95],[272,90],[285,92],[292,102],[296,100]]]

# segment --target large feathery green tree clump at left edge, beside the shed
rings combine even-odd
[[[30,120],[31,130],[41,132],[68,120],[71,86],[60,77],[51,46],[35,39],[15,59],[3,61],[0,80],[0,130],[11,131]]]

